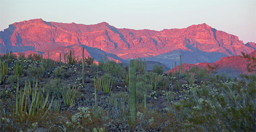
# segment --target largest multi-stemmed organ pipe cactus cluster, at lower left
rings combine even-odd
[[[30,95],[32,95],[32,101],[30,103],[28,114],[26,114],[28,109],[27,104],[30,101],[30,98],[29,98]],[[19,101],[18,101],[18,96],[20,96]],[[20,120],[22,120],[23,117],[25,117],[26,115],[27,116],[36,115],[41,110],[44,110],[48,101],[48,97],[49,97],[49,92],[47,92],[47,95],[44,99],[44,88],[43,88],[43,91],[41,91],[41,86],[38,87],[38,81],[36,81],[36,84],[34,83],[33,87],[31,87],[30,81],[29,81],[29,84],[27,84],[27,81],[25,80],[24,91],[22,91],[22,89],[20,89],[19,91],[19,86],[17,86],[16,88],[16,115],[20,115]],[[47,111],[44,113],[44,115],[47,114],[47,112],[51,108],[53,97],[54,96],[52,96],[52,101]]]

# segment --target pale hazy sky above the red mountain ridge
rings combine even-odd
[[[44,21],[163,30],[206,23],[256,42],[256,0],[0,0],[0,31],[9,24]]]

